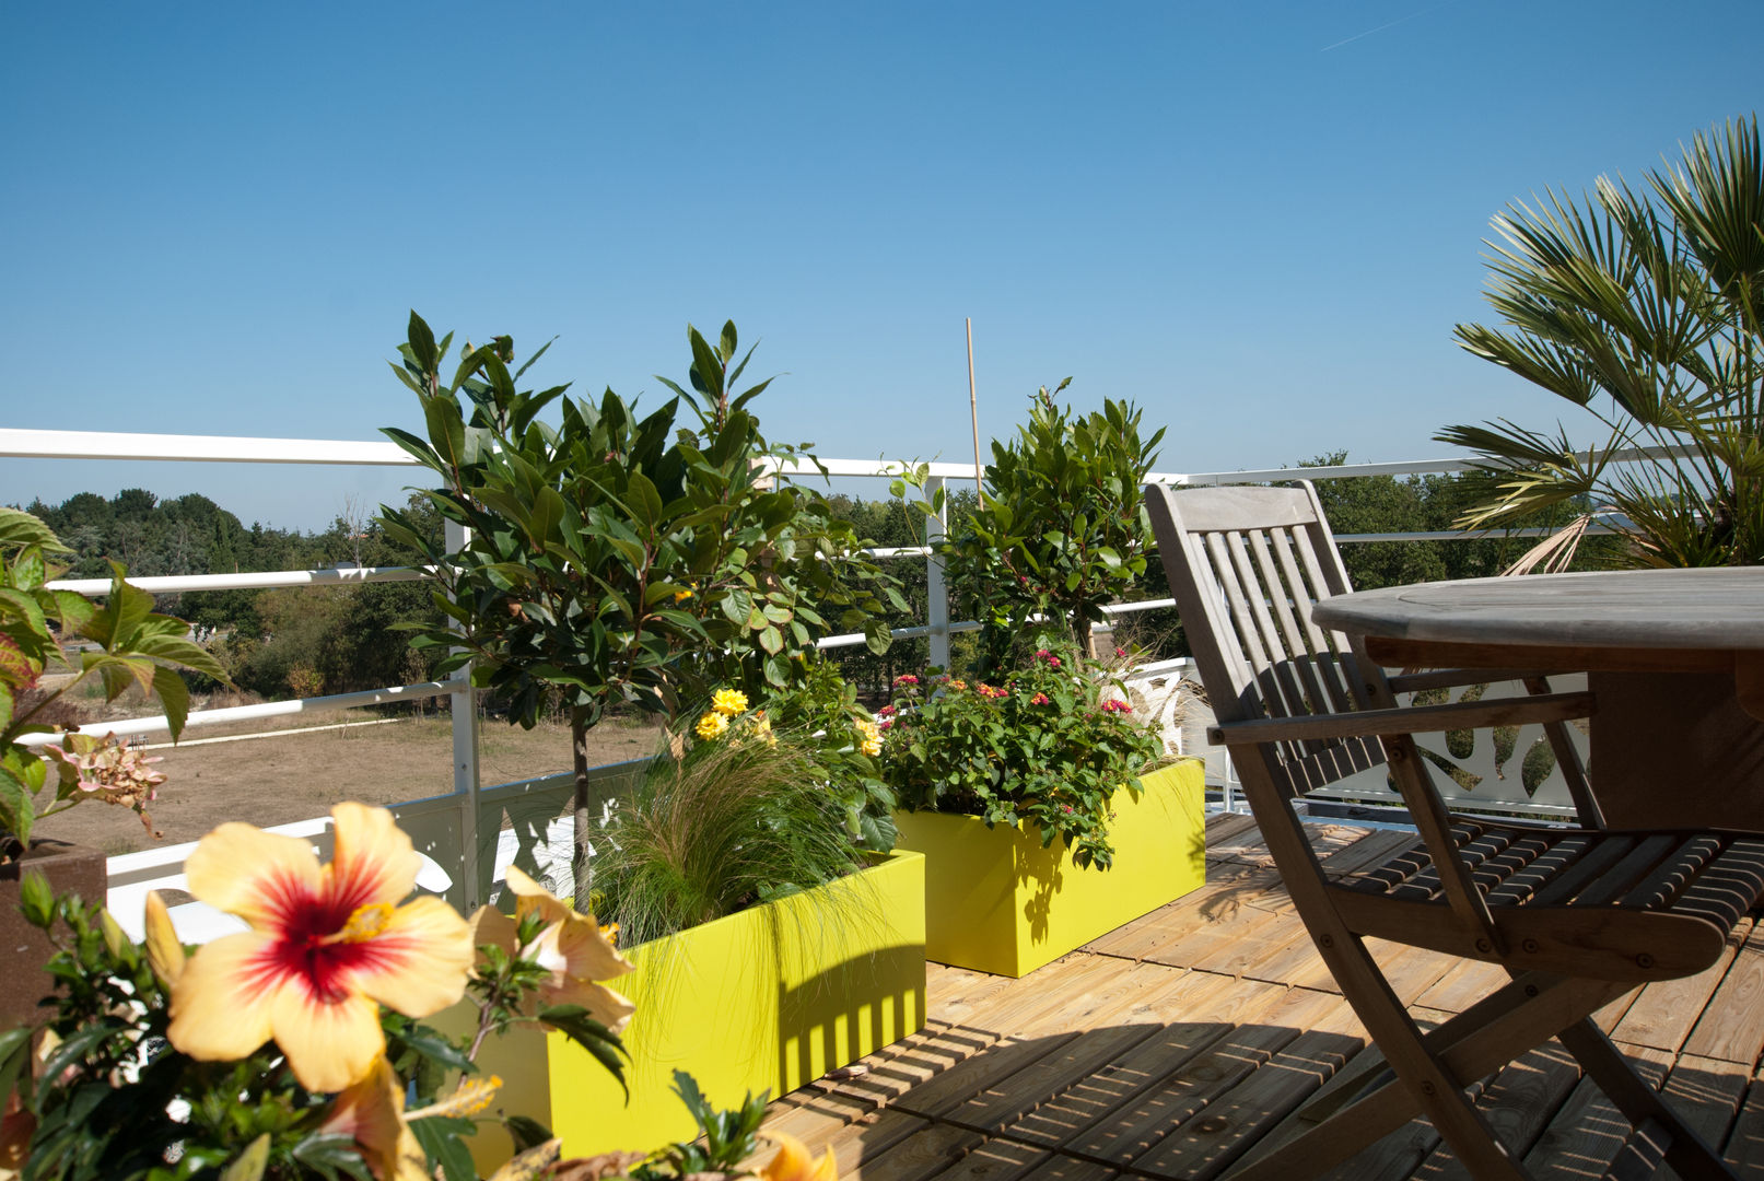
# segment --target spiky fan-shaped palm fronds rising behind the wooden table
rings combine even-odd
[[[1499,483],[1466,525],[1588,501],[1611,508],[1630,566],[1764,561],[1764,153],[1757,116],[1697,134],[1642,192],[1600,178],[1584,203],[1514,204],[1487,298],[1505,328],[1459,344],[1591,416],[1577,448],[1510,421],[1448,427]],[[1625,462],[1633,448],[1662,448]]]

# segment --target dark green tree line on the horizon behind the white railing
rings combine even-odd
[[[1344,462],[1346,453],[1319,455],[1304,465]],[[1295,471],[1295,476],[1302,474]],[[1475,476],[1371,476],[1325,479],[1318,494],[1337,534],[1424,532],[1452,529],[1452,522],[1485,492]],[[924,543],[921,513],[900,499],[863,499],[833,494],[829,506],[848,520],[857,536],[878,548]],[[974,511],[974,488],[956,487],[947,501],[949,520]],[[418,555],[386,536],[377,520],[349,506],[318,532],[243,525],[212,499],[189,494],[168,501],[145,488],[123,488],[115,497],[81,492],[62,504],[41,501],[28,511],[42,518],[74,550],[71,578],[104,578],[106,559],[127,566],[136,578],[159,575],[219,575],[272,569],[323,569],[335,566],[411,566]],[[441,522],[418,497],[406,515],[439,534]],[[1563,515],[1570,515],[1565,509]],[[1372,589],[1438,578],[1498,575],[1531,543],[1491,536],[1484,541],[1374,541],[1342,546],[1353,585]],[[1591,539],[1577,555],[1577,568],[1609,559],[1612,539]],[[924,622],[928,605],[923,559],[887,562],[901,582],[907,613],[893,613],[893,628]],[[1134,598],[1168,598],[1162,566],[1148,562]],[[983,605],[975,587],[951,587],[951,619],[979,619]],[[261,590],[201,590],[157,596],[159,610],[187,619],[228,670],[233,682],[265,698],[351,693],[430,677],[432,657],[407,643],[407,633],[392,624],[439,622],[430,590],[420,582],[385,582],[349,587],[279,587]],[[1136,612],[1122,619],[1118,638],[1150,656],[1185,654],[1180,620],[1173,610]],[[974,638],[956,636],[956,663]],[[841,673],[864,693],[884,693],[894,677],[921,672],[930,661],[926,640],[900,640],[887,652],[873,654],[861,643],[834,652]],[[203,686],[196,686],[201,689]]]

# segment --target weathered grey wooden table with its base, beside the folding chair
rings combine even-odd
[[[1586,672],[1607,823],[1764,830],[1764,568],[1429,582],[1312,615],[1387,668]]]

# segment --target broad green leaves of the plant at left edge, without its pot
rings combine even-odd
[[[46,583],[62,575],[51,559],[67,552],[30,513],[0,508],[0,860],[16,851],[7,850],[9,841],[30,843],[39,814],[65,811],[88,795],[85,786],[102,786],[102,779],[83,784],[58,776],[53,798],[39,809],[46,765],[19,739],[51,730],[37,719],[62,694],[93,677],[106,702],[139,686],[159,702],[176,740],[189,714],[189,689],[176,670],[224,677],[213,656],[185,638],[182,620],[155,613],[153,596],[123,582],[118,564],[111,564],[102,606],[71,590],[49,590]],[[62,650],[74,638],[88,642],[78,665]],[[58,666],[74,673],[72,680],[41,689],[42,673]]]

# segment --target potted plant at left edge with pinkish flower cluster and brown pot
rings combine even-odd
[[[183,622],[153,613],[153,598],[123,582],[122,566],[111,564],[104,606],[51,590],[46,583],[62,573],[56,553],[69,550],[48,525],[0,508],[0,1031],[30,1021],[49,985],[42,968],[53,947],[19,911],[25,881],[41,876],[56,892],[104,897],[104,855],[34,839],[37,820],[101,798],[132,807],[152,832],[146,804],[164,779],[148,767],[153,760],[113,737],[69,735],[37,751],[25,735],[53,732],[42,721],[49,707],[97,677],[106,700],[141,686],[176,740],[189,716],[189,689],[176,670],[226,679],[213,656],[185,636]],[[62,649],[76,642],[78,663]],[[62,672],[62,682],[46,687],[46,672]]]

